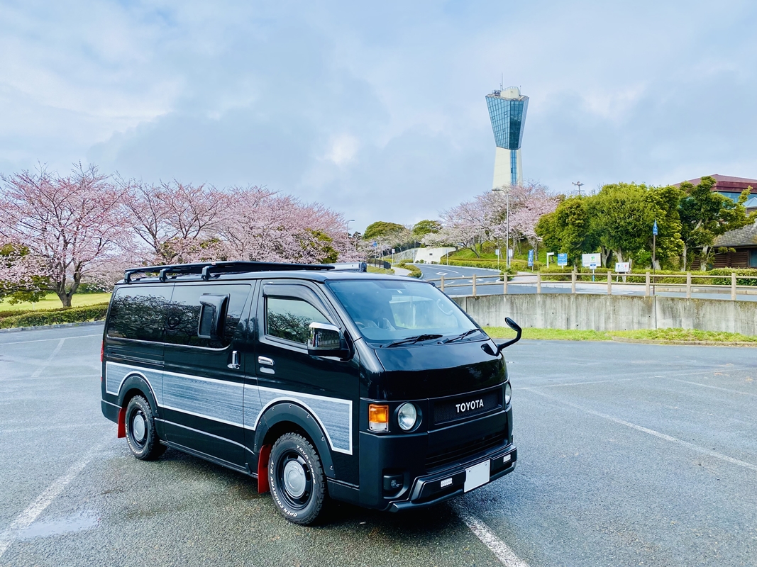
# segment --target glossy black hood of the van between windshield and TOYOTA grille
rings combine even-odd
[[[387,400],[413,400],[473,392],[503,383],[507,379],[504,358],[487,354],[481,348],[487,344],[494,345],[491,340],[479,340],[374,349],[384,367],[376,385],[378,392]]]

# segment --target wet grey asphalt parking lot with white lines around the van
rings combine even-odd
[[[515,472],[301,528],[245,476],[132,458],[100,335],[0,333],[0,565],[757,565],[757,349],[522,341]]]

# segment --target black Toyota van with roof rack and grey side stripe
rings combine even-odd
[[[127,270],[104,330],[104,416],[135,457],[173,447],[245,472],[299,524],[327,496],[398,511],[511,472],[500,352],[519,327],[497,345],[431,283],[358,269]]]

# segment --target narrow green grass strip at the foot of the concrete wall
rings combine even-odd
[[[497,339],[509,339],[516,336],[509,327],[484,327],[489,336]],[[633,331],[594,331],[594,330],[565,330],[565,329],[534,329],[523,330],[524,339],[536,340],[571,340],[571,341],[609,341],[617,336],[621,339],[654,340],[654,341],[683,341],[683,342],[753,342],[757,345],[757,336],[741,335],[739,333],[719,333],[717,331],[702,331],[696,329],[645,329]]]

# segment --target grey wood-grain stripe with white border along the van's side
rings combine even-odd
[[[160,407],[245,429],[257,429],[268,407],[291,401],[304,407],[326,433],[333,451],[352,454],[352,401],[253,386],[107,361],[105,392],[119,395],[129,376],[142,376]]]

